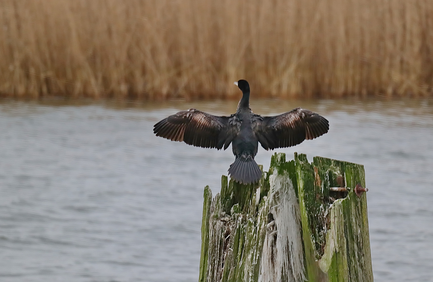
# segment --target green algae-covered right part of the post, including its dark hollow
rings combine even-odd
[[[306,270],[309,281],[372,282],[364,167],[295,154]],[[330,187],[348,192],[332,192]]]

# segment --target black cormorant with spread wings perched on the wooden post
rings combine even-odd
[[[262,171],[254,160],[259,142],[265,150],[291,147],[305,139],[319,137],[329,129],[329,122],[317,113],[296,108],[274,116],[260,116],[249,108],[249,84],[239,80],[242,90],[236,113],[215,116],[197,109],[170,115],[154,125],[153,132],[171,141],[184,141],[197,147],[224,150],[232,143],[236,156],[229,174],[239,183],[255,183]]]

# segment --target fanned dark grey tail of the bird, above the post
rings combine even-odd
[[[239,183],[255,183],[262,178],[262,170],[251,156],[240,156],[229,168],[230,176]]]

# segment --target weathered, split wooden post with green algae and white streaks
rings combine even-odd
[[[362,187],[362,165],[297,153],[254,185],[223,176],[204,189],[199,281],[372,282]]]

